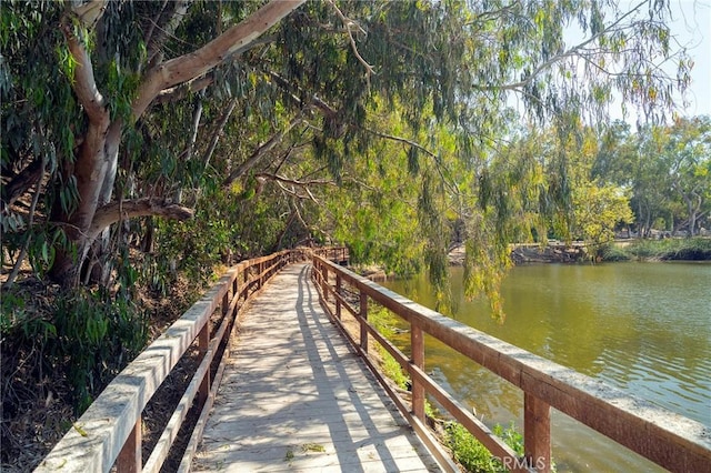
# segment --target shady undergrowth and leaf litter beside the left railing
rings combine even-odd
[[[29,276],[2,289],[0,470],[31,471],[108,383],[197,300],[220,264],[212,248],[193,248],[194,260],[184,263],[180,250],[131,251],[111,288],[61,290]]]

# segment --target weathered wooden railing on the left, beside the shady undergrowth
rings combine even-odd
[[[211,368],[221,355],[227,358],[229,336],[240,308],[284,265],[306,258],[307,253],[301,250],[282,251],[243,261],[229,270],[200,301],[113,379],[36,472],[108,472],[113,465],[118,472],[158,472],[197,397],[200,417],[179,466],[179,471],[188,471],[224,366],[220,363],[217,371]],[[220,315],[217,318],[219,322],[212,328],[210,320],[216,312]],[[142,465],[143,409],[186,352],[196,346],[200,364]]]

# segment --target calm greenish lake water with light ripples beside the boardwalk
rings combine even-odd
[[[711,264],[517,266],[502,288],[503,323],[484,301],[464,300],[461,268],[451,284],[458,321],[711,426]],[[424,275],[383,285],[433,308]],[[520,390],[425,343],[425,368],[451,394],[490,426],[522,431]],[[564,414],[551,422],[559,472],[663,471]]]

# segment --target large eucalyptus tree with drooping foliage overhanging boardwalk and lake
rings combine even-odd
[[[459,159],[480,178],[471,187],[505,188],[510,180],[485,175],[495,172],[489,159],[512,117],[510,94],[530,120],[552,120],[564,133],[568,118],[598,111],[613,89],[653,115],[670,105],[674,84],[658,68],[671,53],[668,10],[658,0],[630,11],[592,0],[91,0],[1,8],[3,224],[37,227],[13,211],[30,201],[30,215],[43,215],[34,254],[68,285],[80,282],[82,268],[89,275],[84,263],[92,259],[108,282],[114,255],[107,244],[119,241],[111,229],[116,236],[138,217],[189,219],[217,182],[254,193],[281,184],[280,195],[303,197],[309,184],[322,185],[323,174],[288,177],[280,173],[287,163],[313,159],[341,183],[349,161],[377,140],[392,140],[407,145],[412,169],[420,154],[438,164]],[[573,23],[583,39],[569,46],[564,31]],[[681,56],[677,66],[675,85],[683,88],[689,63]],[[370,128],[375,100],[399,108],[411,138],[440,122],[458,145]],[[294,152],[304,145],[312,153]],[[540,201],[565,205],[564,157],[554,168],[557,182]],[[445,250],[442,205],[431,199],[448,187],[441,177],[422,178],[419,200],[429,215],[423,229],[438,242],[431,261]],[[470,215],[473,239],[489,232],[482,215],[494,222],[510,215],[481,209]],[[494,224],[481,242],[503,241],[507,228]],[[29,248],[29,235],[18,246]]]

